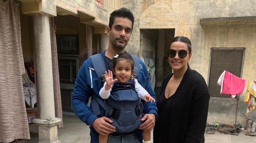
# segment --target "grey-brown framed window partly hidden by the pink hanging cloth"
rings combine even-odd
[[[220,94],[219,76],[226,70],[241,77],[245,48],[211,48],[208,87],[211,97],[226,97]]]

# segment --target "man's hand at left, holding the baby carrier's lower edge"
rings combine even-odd
[[[100,135],[109,135],[113,132],[115,132],[115,127],[112,126],[109,123],[113,123],[112,120],[106,117],[101,117],[96,120],[91,124],[93,128],[100,134]]]

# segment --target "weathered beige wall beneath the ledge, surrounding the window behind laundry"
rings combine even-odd
[[[239,24],[239,25],[206,25],[204,26],[204,53],[210,53],[210,48],[245,48],[245,57],[243,62],[242,78],[247,80],[256,79],[256,24]],[[204,65],[208,67],[209,65]],[[245,86],[247,87],[247,86]],[[242,113],[246,111],[246,103],[243,101],[245,92],[240,95],[237,120],[245,122]],[[209,107],[208,122],[214,120],[226,120],[234,124],[236,112],[236,99],[211,98]],[[249,117],[256,119],[256,112],[253,111]]]

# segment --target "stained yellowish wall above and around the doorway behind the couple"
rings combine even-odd
[[[248,6],[248,4],[250,6]],[[115,1],[115,7],[129,8],[135,15],[128,50],[139,54],[139,29],[175,28],[175,36],[187,36],[192,42],[191,67],[208,78],[209,53],[204,46],[204,29],[199,19],[256,15],[252,0],[130,0]],[[204,66],[202,66],[204,65]]]

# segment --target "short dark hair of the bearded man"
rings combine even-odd
[[[129,9],[123,7],[123,8],[113,11],[110,14],[109,23],[108,23],[108,27],[110,29],[111,29],[116,17],[124,17],[124,18],[130,19],[130,21],[132,21],[132,29],[133,29],[134,16]]]

